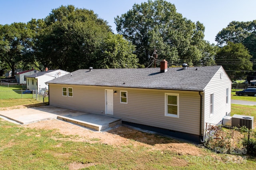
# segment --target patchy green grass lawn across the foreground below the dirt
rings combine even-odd
[[[234,155],[216,154],[200,148],[201,155],[179,154],[179,150],[150,149],[133,144],[112,146],[94,140],[75,142],[79,136],[55,130],[25,128],[0,119],[0,169],[66,169],[74,162],[88,164],[89,170],[134,169],[254,169],[255,158],[238,160]],[[170,138],[164,143],[172,143]],[[132,143],[132,139],[127,139]],[[197,146],[193,146],[198,150]],[[170,162],[173,162],[170,163]],[[174,163],[175,162],[175,163]],[[182,166],[179,166],[182,164]],[[199,168],[199,169],[200,169]]]

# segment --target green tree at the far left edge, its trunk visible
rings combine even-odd
[[[12,69],[26,62],[26,53],[31,50],[32,32],[25,23],[6,24],[0,27],[0,61]]]

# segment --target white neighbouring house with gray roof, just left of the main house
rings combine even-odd
[[[48,85],[46,85],[45,83],[46,81],[50,81],[52,79],[61,77],[68,73],[68,71],[64,71],[61,69],[48,70],[48,68],[46,67],[45,71],[35,73],[32,75],[26,75],[27,89],[38,91],[40,91],[40,89],[48,89]]]

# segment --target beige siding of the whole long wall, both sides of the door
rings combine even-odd
[[[62,87],[72,87],[74,97],[62,96]],[[123,121],[199,134],[198,92],[50,84],[50,105],[87,113],[105,113],[105,89],[113,89],[114,117]],[[128,103],[120,103],[120,91],[127,91]],[[165,93],[179,93],[180,117],[164,115]]]

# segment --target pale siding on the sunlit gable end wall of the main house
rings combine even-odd
[[[220,73],[222,74],[222,78],[220,78]],[[228,103],[226,103],[226,89],[228,88]],[[210,115],[210,94],[214,94],[214,114]],[[216,74],[212,77],[211,81],[205,88],[205,123],[213,123],[217,124],[222,121],[222,118],[226,115],[226,113],[231,112],[231,81],[226,75],[225,71],[222,67],[216,72]]]

